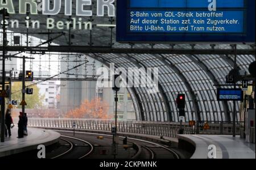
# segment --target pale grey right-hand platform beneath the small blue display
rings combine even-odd
[[[216,146],[217,159],[255,159],[255,144],[246,143],[239,136],[233,138],[230,135],[177,135],[179,147],[195,147],[191,159],[209,159],[208,147]],[[182,145],[183,143],[183,145]]]

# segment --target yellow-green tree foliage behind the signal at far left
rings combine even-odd
[[[26,82],[26,86],[30,85],[31,82]],[[42,109],[44,108],[43,106],[43,100],[44,100],[44,95],[40,95],[39,93],[39,88],[37,86],[31,87],[33,88],[33,95],[27,95],[25,96],[25,101],[27,103],[26,108],[27,109]],[[11,95],[12,100],[17,100],[18,101],[18,108],[22,108],[20,102],[22,101],[22,82],[14,82],[11,86],[11,91],[16,92]]]

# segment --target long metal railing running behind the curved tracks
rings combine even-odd
[[[18,122],[17,119],[14,120]],[[92,119],[67,119],[67,118],[28,118],[28,126],[40,128],[61,128],[111,131],[115,126],[114,120],[92,120]],[[197,123],[198,125],[198,123]],[[184,134],[232,134],[232,124],[228,122],[209,123],[210,129],[204,130],[198,126],[191,127],[183,123]],[[241,125],[236,126],[237,134],[240,134]],[[148,121],[118,121],[117,131],[121,133],[134,133],[156,135],[175,138],[179,132],[179,122],[148,122]]]

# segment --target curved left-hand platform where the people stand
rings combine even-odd
[[[6,137],[5,142],[0,143],[0,158],[20,152],[37,150],[38,145],[49,146],[59,141],[60,134],[52,130],[28,128],[28,135],[18,137],[18,128],[11,129],[11,137]]]

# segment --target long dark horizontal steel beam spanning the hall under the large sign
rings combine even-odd
[[[2,46],[0,46],[2,50]],[[115,54],[233,54],[232,49],[157,49],[157,48],[111,48],[110,46],[6,46],[9,52],[62,52],[62,53],[115,53]],[[255,55],[253,49],[238,49],[237,55]]]

